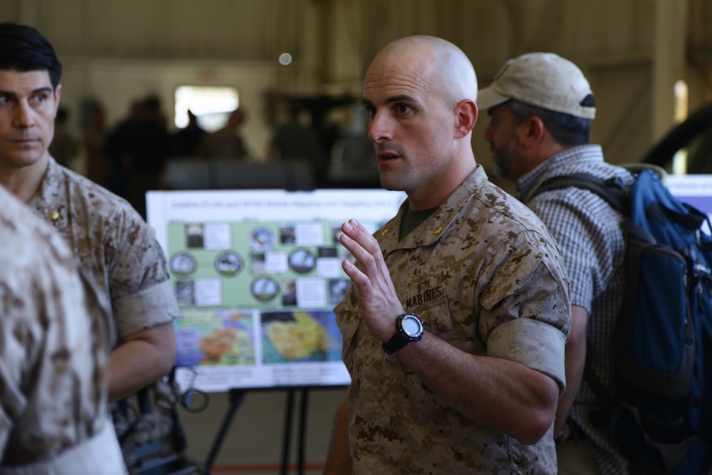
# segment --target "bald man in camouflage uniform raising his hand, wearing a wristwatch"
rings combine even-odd
[[[541,221],[476,164],[476,96],[439,38],[394,41],[366,73],[381,183],[408,199],[374,236],[342,226],[352,383],[326,474],[556,472],[567,277]]]

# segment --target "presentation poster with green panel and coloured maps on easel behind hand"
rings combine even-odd
[[[381,189],[148,192],[180,309],[179,386],[348,385],[333,313],[352,259],[340,227],[355,218],[374,232],[404,199]]]

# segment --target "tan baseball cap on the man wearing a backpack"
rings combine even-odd
[[[584,119],[596,108],[581,105],[591,86],[571,61],[554,53],[526,53],[507,63],[488,87],[477,94],[477,107],[487,110],[510,99]]]

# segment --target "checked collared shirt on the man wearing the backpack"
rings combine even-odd
[[[626,169],[603,161],[599,145],[583,145],[551,157],[521,177],[518,197],[544,221],[557,241],[571,281],[571,303],[589,314],[587,365],[602,385],[612,390],[612,342],[625,292],[622,216],[586,189],[568,187],[532,197],[546,179],[582,172],[602,179],[619,177],[624,184],[633,180]],[[598,397],[584,377],[570,418],[592,443],[600,474],[627,474],[627,461],[609,441],[600,422],[592,420],[597,409]]]

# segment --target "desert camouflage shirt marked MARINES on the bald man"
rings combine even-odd
[[[375,233],[404,308],[457,348],[543,372],[562,392],[568,284],[538,218],[482,167],[399,242],[406,207]],[[353,285],[335,312],[352,377],[355,474],[555,474],[553,426],[530,446],[479,426],[384,353]]]

